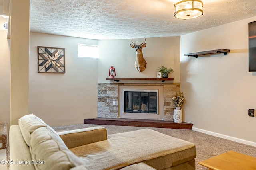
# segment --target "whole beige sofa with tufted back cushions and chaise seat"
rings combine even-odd
[[[195,157],[194,144],[151,129],[56,133],[32,114],[10,127],[10,170],[195,170]]]

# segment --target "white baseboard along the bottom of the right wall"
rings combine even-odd
[[[228,140],[230,140],[230,141],[235,141],[235,142],[239,142],[239,143],[243,143],[243,144],[246,144],[246,145],[251,145],[251,146],[253,146],[253,147],[256,147],[256,142],[246,141],[246,140],[244,140],[244,139],[239,139],[239,138],[231,137],[231,136],[228,136],[228,135],[222,135],[222,134],[220,134],[220,133],[215,133],[215,132],[211,132],[211,131],[206,131],[206,130],[204,130],[204,129],[199,129],[199,128],[196,128],[196,127],[192,127],[192,130],[193,130],[193,131],[202,132],[202,133],[205,133],[205,134],[208,134],[208,135],[220,137],[220,138],[223,138],[223,139],[228,139]]]

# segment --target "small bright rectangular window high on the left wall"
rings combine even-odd
[[[78,58],[93,58],[98,59],[98,46],[78,44]]]

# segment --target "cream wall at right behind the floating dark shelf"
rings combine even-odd
[[[256,17],[181,36],[183,120],[194,128],[256,142],[256,73],[248,72],[248,23]],[[228,55],[186,53],[230,49]],[[255,145],[255,144],[254,144]]]

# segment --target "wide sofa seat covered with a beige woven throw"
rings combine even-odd
[[[196,157],[193,143],[151,129],[109,135],[106,141],[70,150],[81,157],[91,170],[114,170],[144,161],[154,162],[145,163],[161,170]]]

